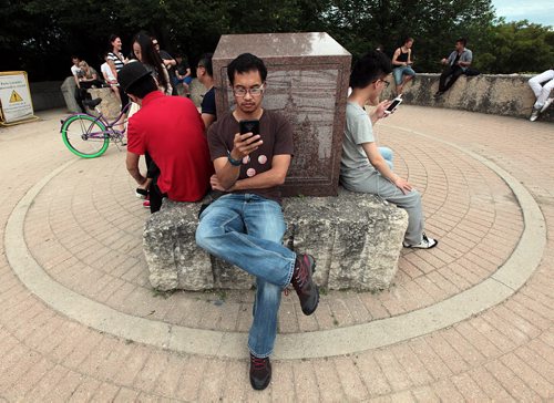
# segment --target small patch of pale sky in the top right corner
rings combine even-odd
[[[554,0],[492,0],[496,17],[554,27]]]

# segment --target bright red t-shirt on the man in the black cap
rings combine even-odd
[[[176,202],[197,202],[209,188],[213,165],[204,123],[188,99],[147,94],[129,120],[127,151],[148,152],[160,168],[157,186]]]

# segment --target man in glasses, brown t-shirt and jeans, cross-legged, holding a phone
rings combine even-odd
[[[293,155],[293,127],[280,114],[261,107],[267,70],[249,53],[227,66],[235,111],[218,116],[208,131],[215,175],[212,187],[225,194],[202,214],[196,242],[209,254],[256,277],[254,321],[248,335],[250,384],[267,388],[269,355],[277,334],[281,291],[293,285],[305,314],[319,302],[312,281],[315,260],[283,246],[286,225],[278,186]],[[239,132],[239,121],[258,121],[259,134]]]

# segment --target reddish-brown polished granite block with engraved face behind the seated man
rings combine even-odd
[[[218,115],[234,107],[227,65],[242,53],[264,60],[263,106],[294,127],[284,196],[336,196],[351,54],[325,32],[223,35],[212,60]]]

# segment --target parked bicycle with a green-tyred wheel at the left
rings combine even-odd
[[[117,148],[124,145],[126,121],[123,116],[127,112],[131,103],[120,112],[114,121],[107,121],[98,105],[101,99],[83,101],[83,104],[98,113],[98,116],[89,113],[75,113],[61,121],[60,133],[65,146],[75,155],[83,158],[95,158],[107,149],[110,141]],[[122,122],[120,122],[122,121]],[[114,128],[121,125],[122,131]]]

